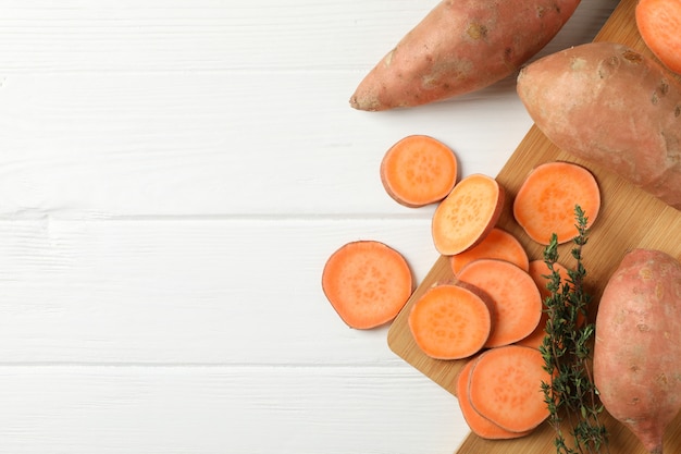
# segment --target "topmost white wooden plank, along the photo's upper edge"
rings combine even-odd
[[[584,39],[612,0],[583,2],[564,36]],[[334,70],[361,73],[435,4],[398,0],[324,3],[151,0],[84,3],[5,0],[2,75],[61,72]],[[593,21],[593,22],[592,22]],[[586,25],[586,26],[584,26]],[[264,35],[264,37],[263,37]],[[269,90],[276,84],[261,87]],[[350,91],[344,96],[349,97]]]

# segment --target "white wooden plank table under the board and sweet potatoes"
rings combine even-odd
[[[586,42],[584,2],[543,53]],[[432,208],[383,191],[408,134],[495,175],[509,77],[382,113],[355,86],[435,1],[0,1],[0,453],[454,453],[456,400],[350,330],[321,270]]]

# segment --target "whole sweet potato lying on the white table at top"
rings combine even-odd
[[[511,75],[562,28],[580,0],[443,0],[367,74],[358,110],[414,107]]]

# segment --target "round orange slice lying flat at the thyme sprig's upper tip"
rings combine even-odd
[[[571,162],[537,165],[524,180],[513,200],[513,217],[528,236],[547,245],[555,233],[558,243],[577,236],[574,208],[579,205],[591,226],[600,209],[600,192],[594,175]]]

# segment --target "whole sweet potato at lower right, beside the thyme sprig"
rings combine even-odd
[[[651,453],[681,408],[681,263],[633,249],[598,305],[594,382],[605,408]]]

